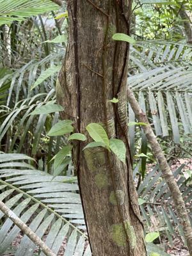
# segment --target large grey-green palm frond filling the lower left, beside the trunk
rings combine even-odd
[[[58,253],[65,241],[65,256],[91,255],[90,247],[85,248],[83,210],[74,178],[70,182],[71,177],[53,177],[35,170],[26,161],[31,161],[31,157],[0,154],[1,200],[24,223],[30,223],[29,228],[40,238],[45,237],[45,243],[54,253]],[[20,230],[2,213],[0,218],[4,220],[0,230],[3,255]],[[35,248],[24,236],[15,255],[33,255]]]

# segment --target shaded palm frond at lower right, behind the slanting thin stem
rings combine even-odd
[[[189,218],[192,223],[192,188],[191,186],[186,186],[186,179],[182,173],[183,168],[184,164],[181,164],[173,172],[173,175],[185,199],[186,207],[189,210]],[[138,196],[145,200],[145,203],[140,205],[140,210],[145,227],[150,231],[159,230],[160,232],[165,232],[172,244],[175,230],[183,240],[184,233],[175,214],[168,186],[161,177],[162,173],[158,165],[145,175],[145,180],[143,180],[143,183],[138,188]]]

